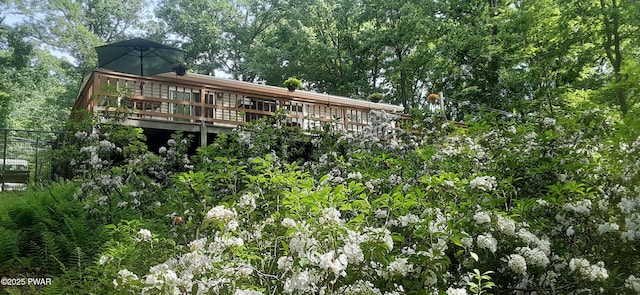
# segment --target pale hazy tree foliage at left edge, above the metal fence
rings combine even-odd
[[[24,27],[0,24],[0,127],[57,130],[75,99],[74,68],[29,36]]]

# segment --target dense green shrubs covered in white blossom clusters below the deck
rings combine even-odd
[[[108,241],[49,291],[640,292],[640,138],[610,117],[427,115],[406,133],[374,113],[357,136],[261,122],[192,158],[179,135],[153,154],[123,140],[135,129],[78,131],[74,195]]]

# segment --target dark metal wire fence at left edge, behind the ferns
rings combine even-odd
[[[63,133],[54,131],[0,128],[0,159],[27,161],[29,184],[49,182],[56,169],[53,150],[61,136]],[[7,169],[7,165],[0,165],[0,184],[5,182],[2,178]]]

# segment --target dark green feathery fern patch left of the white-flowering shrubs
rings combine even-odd
[[[55,276],[77,265],[78,251],[96,253],[105,236],[73,199],[75,189],[63,183],[47,190],[3,195],[0,271],[14,276]]]

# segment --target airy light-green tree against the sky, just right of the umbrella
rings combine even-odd
[[[178,37],[187,61],[197,71],[222,71],[234,79],[255,81],[257,75],[249,64],[259,58],[261,52],[255,48],[280,19],[283,5],[279,0],[165,0],[159,3],[157,15],[167,31]]]

